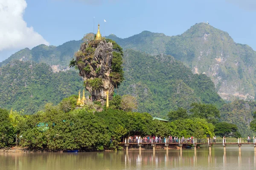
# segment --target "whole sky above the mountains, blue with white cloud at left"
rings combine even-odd
[[[1,8],[12,9],[6,16],[15,10],[17,15],[1,19]],[[0,22],[10,25],[0,25],[0,61],[25,47],[79,40],[93,32],[93,17],[95,32],[100,23],[103,36],[113,33],[121,38],[145,30],[172,36],[208,21],[256,50],[256,0],[0,0]],[[17,31],[9,31],[13,29]]]

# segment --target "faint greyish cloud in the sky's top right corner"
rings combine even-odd
[[[226,0],[227,3],[233,3],[239,8],[256,11],[256,0]]]

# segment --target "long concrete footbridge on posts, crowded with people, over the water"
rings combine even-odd
[[[238,138],[238,139],[229,139],[229,138],[223,138],[223,139],[125,139],[125,142],[120,142],[120,145],[124,145],[126,146],[126,151],[128,151],[128,147],[129,145],[138,145],[139,146],[139,150],[141,150],[141,146],[145,145],[145,144],[151,144],[151,146],[153,147],[153,151],[155,150],[155,146],[156,145],[162,145],[162,146],[166,146],[166,150],[168,150],[169,145],[178,145],[180,146],[180,150],[182,150],[182,146],[183,145],[194,145],[194,149],[196,151],[196,146],[198,144],[207,144],[209,147],[209,151],[211,151],[211,147],[213,144],[222,144],[224,151],[226,151],[226,145],[227,144],[237,144],[239,147],[239,151],[241,151],[241,145],[242,144],[251,144],[254,146],[254,152],[256,152],[256,139],[242,139],[242,138]]]

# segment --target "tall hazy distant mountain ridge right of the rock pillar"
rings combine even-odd
[[[234,42],[227,32],[207,23],[195,24],[183,34],[172,37],[143,31],[125,39],[113,34],[108,38],[124,49],[172,55],[193,73],[210,77],[224,99],[254,99],[256,51]]]

